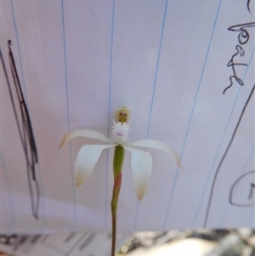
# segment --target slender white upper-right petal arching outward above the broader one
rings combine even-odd
[[[164,142],[152,139],[141,139],[134,141],[132,143],[128,143],[128,145],[150,147],[157,150],[165,151],[169,156],[173,158],[173,161],[177,164],[178,168],[182,168],[177,153],[173,151],[173,149]]]

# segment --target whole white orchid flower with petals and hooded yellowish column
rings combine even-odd
[[[171,147],[161,141],[141,139],[132,143],[126,142],[127,135],[129,133],[130,116],[131,113],[126,107],[122,107],[116,111],[115,118],[118,122],[113,119],[112,127],[112,134],[115,141],[111,141],[111,139],[107,138],[104,134],[88,129],[74,130],[65,135],[59,147],[65,145],[65,143],[69,140],[79,136],[99,139],[108,143],[105,145],[82,145],[82,148],[78,152],[77,161],[75,163],[75,179],[77,187],[82,185],[88,179],[99,160],[101,152],[105,149],[116,147],[117,145],[121,145],[125,150],[131,152],[131,168],[133,172],[134,191],[139,200],[143,199],[144,193],[147,190],[150,182],[152,158],[149,152],[141,151],[134,147],[149,147],[165,151],[173,158],[173,161],[178,165],[178,167],[181,168],[178,155]]]

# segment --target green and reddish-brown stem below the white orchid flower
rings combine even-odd
[[[111,240],[111,256],[115,255],[116,247],[116,210],[119,193],[122,185],[122,163],[124,159],[124,148],[122,145],[116,145],[113,158],[113,175],[114,185],[111,200],[111,218],[112,218],[112,240]]]

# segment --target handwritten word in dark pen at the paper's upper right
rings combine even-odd
[[[252,26],[255,26],[255,22],[250,22],[250,23],[244,23],[244,24],[238,24],[235,26],[229,26],[228,30],[229,31],[239,31],[239,35],[238,35],[238,43],[235,46],[236,49],[236,53],[232,55],[231,60],[229,60],[229,63],[227,64],[227,66],[231,66],[232,67],[232,71],[233,71],[233,75],[229,77],[230,80],[230,84],[228,87],[224,88],[223,94],[226,92],[227,89],[229,89],[232,85],[233,85],[233,79],[235,79],[235,81],[240,84],[241,86],[244,86],[244,82],[241,80],[240,77],[237,76],[236,71],[235,71],[235,66],[236,65],[246,65],[245,63],[235,63],[235,57],[237,55],[240,55],[241,57],[243,57],[245,55],[245,51],[242,48],[241,45],[246,44],[249,39],[250,39],[250,35],[249,32],[246,30],[246,28],[251,28]]]

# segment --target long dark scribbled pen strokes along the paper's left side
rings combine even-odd
[[[28,178],[28,186],[31,197],[31,211],[35,219],[38,219],[40,191],[36,178],[36,164],[38,163],[36,140],[31,126],[31,118],[26,105],[22,88],[20,86],[20,78],[16,69],[14,55],[11,49],[11,41],[8,40],[8,57],[10,63],[11,74],[14,80],[14,88],[8,79],[7,69],[3,60],[3,54],[0,48],[0,58],[3,65],[3,73],[8,84],[8,92],[13,105],[14,117],[20,134],[20,140],[26,157],[26,173]],[[17,100],[14,100],[14,92],[16,92]],[[18,101],[18,103],[17,103]],[[20,109],[20,111],[19,111]]]

